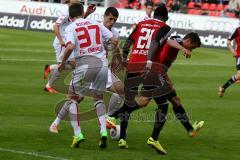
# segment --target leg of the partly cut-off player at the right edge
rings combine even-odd
[[[227,80],[222,86],[220,86],[218,88],[218,95],[219,97],[223,97],[224,92],[226,91],[226,89],[234,84],[235,82],[237,82],[238,80],[240,80],[240,58],[237,58],[237,73],[236,75],[233,75],[229,80]]]

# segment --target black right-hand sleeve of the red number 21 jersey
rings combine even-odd
[[[166,25],[158,30],[158,32],[156,33],[156,36],[153,40],[159,42],[159,44],[162,45],[163,42],[168,39],[168,37],[171,35],[171,33],[172,33],[171,27]]]

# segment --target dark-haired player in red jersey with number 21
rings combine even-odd
[[[111,115],[113,117],[118,115],[121,120],[120,140],[118,144],[121,148],[128,147],[125,139],[129,115],[132,111],[139,108],[135,101],[135,96],[138,94],[138,86],[141,83],[147,85],[144,83],[144,68],[147,64],[148,51],[152,45],[152,41],[156,41],[157,48],[161,50],[161,47],[166,43],[167,38],[171,34],[171,28],[165,23],[167,19],[167,8],[164,4],[161,4],[154,12],[154,19],[140,22],[123,47],[123,59],[126,60],[132,45],[132,54],[127,64],[127,75],[124,81],[125,101],[123,107],[118,112],[115,112],[114,115]],[[174,40],[169,40],[169,44],[172,47],[181,47],[181,45]],[[190,52],[183,47],[182,51],[185,54],[189,54]],[[157,85],[159,85],[159,80],[156,81],[158,83]],[[157,104],[161,103],[157,98],[154,97],[153,99]],[[158,151],[165,154],[165,150],[162,148],[158,148]]]

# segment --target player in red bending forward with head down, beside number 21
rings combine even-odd
[[[153,56],[153,62],[161,63],[168,67],[168,69],[171,67],[172,63],[177,58],[179,50],[183,50],[184,48],[188,49],[189,51],[192,51],[193,49],[200,47],[201,42],[198,34],[196,33],[189,33],[187,34],[183,39],[179,36],[173,36],[170,39],[176,41],[181,46],[180,47],[171,47],[168,43],[165,43],[165,45],[162,47],[160,52],[157,52],[155,56]],[[151,53],[149,53],[151,54]],[[186,57],[190,57],[191,54],[184,53]],[[149,56],[151,57],[151,56]],[[156,63],[154,63],[156,64]],[[153,67],[154,68],[154,65]],[[155,67],[156,68],[156,67]],[[200,121],[198,123],[194,123],[193,125],[190,124],[189,118],[183,108],[183,105],[181,104],[180,98],[176,94],[176,90],[172,86],[171,80],[168,78],[167,75],[164,76],[165,79],[170,83],[172,90],[170,93],[168,93],[166,96],[159,96],[158,98],[153,99],[158,104],[158,109],[156,110],[156,122],[154,125],[154,129],[152,132],[152,136],[148,139],[148,144],[153,146],[160,154],[165,154],[166,151],[161,147],[159,144],[158,136],[159,133],[165,123],[165,118],[167,115],[168,110],[168,104],[167,99],[172,103],[173,110],[176,115],[176,117],[180,120],[180,122],[183,124],[185,129],[187,130],[190,137],[196,136],[197,132],[202,128],[204,121]],[[142,105],[145,103],[145,106],[150,102],[152,98],[149,97],[140,97],[138,99],[138,103],[141,103]],[[137,108],[133,108],[135,110]],[[122,113],[122,112],[121,112]],[[119,113],[118,113],[119,114]]]

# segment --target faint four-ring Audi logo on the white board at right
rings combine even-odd
[[[204,22],[204,30],[228,32],[233,24],[222,20],[207,20]]]

